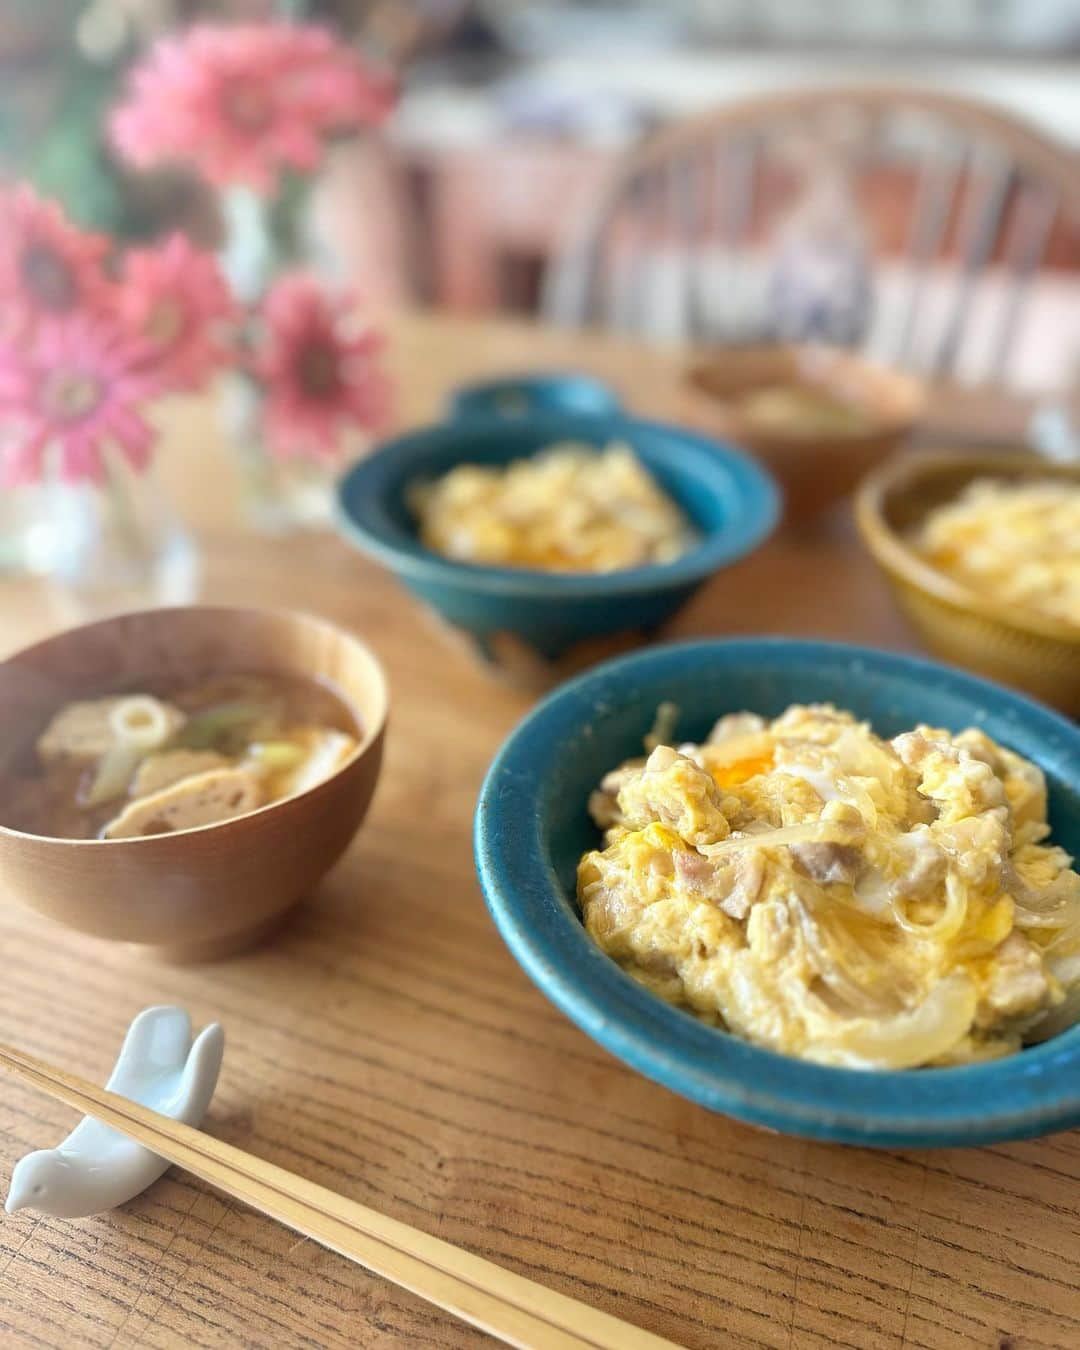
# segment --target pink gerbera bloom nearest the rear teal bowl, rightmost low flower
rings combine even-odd
[[[282,278],[263,306],[266,338],[254,362],[266,387],[274,455],[329,459],[348,428],[377,431],[389,409],[379,333],[356,321],[355,297],[327,296],[302,275]]]

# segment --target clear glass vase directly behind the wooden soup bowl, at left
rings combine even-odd
[[[72,621],[196,598],[198,552],[153,473],[111,466],[104,482],[53,479],[36,509],[26,560]]]

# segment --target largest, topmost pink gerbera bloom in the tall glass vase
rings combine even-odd
[[[132,163],[193,165],[216,186],[270,192],[281,169],[312,170],[325,136],[381,122],[390,81],[327,30],[196,24],[161,39],[113,115]]]

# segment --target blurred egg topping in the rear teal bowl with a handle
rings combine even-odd
[[[460,562],[554,572],[667,563],[694,543],[628,446],[552,446],[505,466],[459,464],[409,494],[420,539]]]

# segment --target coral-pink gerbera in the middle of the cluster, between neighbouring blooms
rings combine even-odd
[[[224,355],[234,306],[216,259],[176,234],[157,248],[128,252],[119,312],[162,385],[196,389]]]

